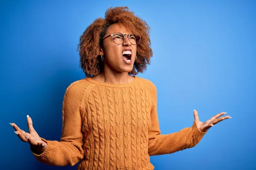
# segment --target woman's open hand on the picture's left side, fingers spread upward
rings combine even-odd
[[[47,143],[42,141],[41,137],[38,135],[38,133],[36,133],[32,125],[32,119],[29,117],[29,115],[27,115],[27,122],[29,133],[21,130],[15,123],[10,123],[10,125],[12,125],[12,127],[15,129],[14,132],[17,134],[17,136],[19,136],[20,140],[23,142],[28,142],[36,154],[41,154],[47,149]]]

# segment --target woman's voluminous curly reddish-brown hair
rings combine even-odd
[[[80,56],[80,67],[86,77],[93,77],[103,71],[103,62],[99,56],[99,50],[102,47],[102,37],[105,36],[108,26],[114,23],[120,23],[130,28],[134,34],[141,36],[141,41],[137,45],[137,59],[129,75],[137,75],[146,70],[147,64],[150,64],[150,58],[153,56],[151,41],[149,39],[150,27],[148,24],[136,17],[134,12],[129,11],[128,7],[108,8],[105,12],[105,19],[97,18],[90,26],[86,28],[80,36],[78,51]]]

